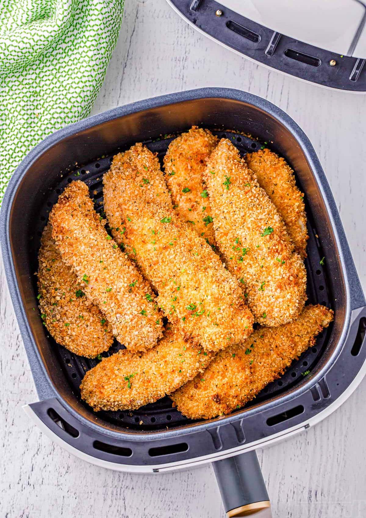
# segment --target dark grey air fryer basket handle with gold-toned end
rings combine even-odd
[[[255,450],[213,464],[228,518],[272,518],[265,481]]]

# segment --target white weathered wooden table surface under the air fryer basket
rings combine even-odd
[[[365,289],[366,95],[251,63],[199,35],[165,0],[128,0],[93,113],[204,86],[265,97],[309,136]],[[223,518],[210,465],[158,476],[108,471],[69,455],[28,421],[21,406],[37,396],[3,271],[0,280],[0,518]],[[366,380],[326,421],[258,451],[274,517],[366,516],[365,423]]]

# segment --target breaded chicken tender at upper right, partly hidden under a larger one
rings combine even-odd
[[[284,159],[269,149],[248,153],[244,160],[282,217],[287,232],[294,241],[295,250],[301,258],[306,257],[306,241],[309,236],[306,229],[304,194],[295,183],[294,171]]]

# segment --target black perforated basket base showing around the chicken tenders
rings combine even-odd
[[[262,143],[252,140],[244,135],[234,133],[231,131],[215,131],[212,132],[218,137],[229,138],[239,149],[242,155],[247,152],[257,151],[262,148]],[[144,145],[151,151],[158,154],[160,162],[169,146],[169,143],[174,137],[167,135],[154,141],[145,141]],[[270,147],[270,146],[269,146]],[[124,149],[116,150],[124,151]],[[60,177],[60,182],[54,186],[46,199],[45,205],[40,210],[39,218],[36,221],[35,235],[32,239],[32,260],[34,264],[34,271],[37,270],[37,254],[40,246],[40,236],[43,228],[48,221],[48,215],[52,206],[57,202],[58,195],[64,190],[65,186],[73,180],[82,180],[89,187],[90,195],[94,199],[95,209],[97,212],[103,211],[103,175],[108,171],[113,155],[103,156],[91,164],[69,172],[67,175]],[[301,185],[299,184],[301,189]],[[327,276],[325,266],[320,265],[321,253],[319,240],[317,238],[316,227],[310,212],[310,207],[306,203],[306,196],[304,197],[306,212],[308,215],[308,257],[305,260],[306,272],[308,275],[308,303],[309,304],[324,304],[330,307],[330,298],[327,287]],[[36,283],[36,280],[35,280]],[[36,289],[36,287],[35,287]],[[292,386],[296,385],[306,375],[306,371],[312,370],[319,358],[323,354],[326,344],[327,336],[330,333],[330,328],[318,336],[316,344],[313,348],[305,351],[297,361],[286,370],[284,375],[277,381],[270,383],[262,392],[258,394],[254,401],[249,402],[245,408],[248,408],[258,402],[266,401],[273,396],[284,393]],[[65,376],[72,387],[72,391],[80,399],[80,383],[87,370],[91,369],[98,363],[98,359],[89,359],[76,354],[70,353],[67,349],[59,346],[54,340],[54,349],[61,367],[65,372]],[[109,351],[102,354],[103,357],[114,354],[119,349],[123,349],[116,340],[112,344]],[[159,430],[164,428],[171,428],[186,425],[193,421],[186,419],[177,409],[172,407],[172,401],[168,397],[164,397],[153,404],[141,407],[138,410],[123,411],[123,412],[98,412],[100,418],[111,422],[114,425],[122,426],[123,428],[134,430]]]

